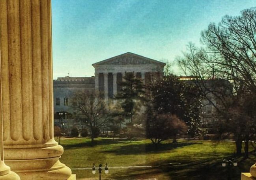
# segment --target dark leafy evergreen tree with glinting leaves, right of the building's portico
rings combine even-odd
[[[170,75],[149,84],[148,89],[151,92],[150,101],[154,113],[176,115],[187,124],[188,133],[192,137],[204,132],[200,115],[202,96],[195,85]]]

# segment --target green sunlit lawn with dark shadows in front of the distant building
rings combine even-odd
[[[109,169],[102,179],[157,178],[159,180],[226,180],[230,176],[240,178],[248,172],[255,158],[239,162],[232,169],[221,167],[222,159],[234,155],[234,142],[179,140],[163,142],[157,149],[150,140],[97,138],[94,145],[87,138],[61,140],[65,151],[61,161],[71,168],[92,167],[93,163],[108,163],[109,167],[150,165],[152,168]],[[75,170],[77,178],[97,179],[99,174],[91,170]]]

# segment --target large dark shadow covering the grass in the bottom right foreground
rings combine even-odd
[[[230,156],[227,157],[228,158]],[[114,173],[112,179],[135,180],[138,178],[156,178],[157,180],[226,180],[240,179],[241,172],[246,172],[241,163],[237,167],[222,167],[221,158],[207,160],[179,161],[172,165],[162,164],[151,169],[127,169],[125,173]],[[159,164],[158,161],[155,164]],[[160,163],[161,164],[161,163]]]

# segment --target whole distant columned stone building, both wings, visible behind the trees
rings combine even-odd
[[[95,77],[69,77],[57,78],[54,84],[54,119],[55,124],[71,128],[82,127],[81,122],[75,122],[69,117],[76,114],[72,108],[72,98],[77,91],[101,91],[105,100],[113,98],[121,89],[118,82],[122,81],[127,72],[133,72],[136,77],[142,78],[144,84],[157,80],[163,76],[166,64],[154,59],[146,58],[131,52],[105,59],[92,64],[95,68]],[[228,94],[232,91],[232,85],[228,80],[207,79],[198,80],[195,76],[179,76],[179,80],[188,83],[198,83],[205,88],[207,98],[203,100],[203,122],[212,126],[216,120],[215,108],[218,104],[212,90],[223,91]],[[211,102],[210,102],[211,101]]]

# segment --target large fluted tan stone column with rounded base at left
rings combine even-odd
[[[54,140],[50,0],[0,0],[6,164],[22,180],[66,180]]]

